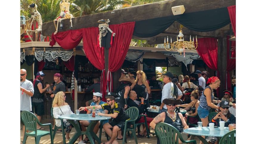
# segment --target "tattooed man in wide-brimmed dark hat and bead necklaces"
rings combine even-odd
[[[183,129],[188,129],[188,125],[182,114],[179,112],[174,112],[176,105],[181,104],[182,101],[177,100],[176,98],[166,98],[163,100],[163,103],[166,104],[167,111],[158,114],[154,120],[152,120],[149,126],[155,129],[157,123],[163,122],[174,126],[179,132],[183,132]],[[180,140],[179,143],[181,143]]]

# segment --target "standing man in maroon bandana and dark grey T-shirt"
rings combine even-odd
[[[49,91],[49,93],[51,94],[51,98],[53,98],[55,96],[56,93],[63,91],[64,93],[66,92],[66,86],[65,84],[62,82],[62,76],[60,73],[55,73],[53,75],[53,80],[54,80],[54,86],[53,86],[53,91]],[[55,126],[55,120],[53,120],[54,125],[52,127],[52,131],[54,131],[54,126]],[[61,129],[58,129],[57,132],[61,132]]]

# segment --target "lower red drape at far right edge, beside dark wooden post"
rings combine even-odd
[[[230,36],[227,36],[227,72],[226,72],[226,89],[227,90],[232,90],[231,87],[231,79],[230,79],[230,74],[229,72],[232,71],[235,68],[235,59],[230,59]],[[231,46],[235,47],[235,41],[231,41]],[[235,51],[232,52],[232,57],[235,57]]]

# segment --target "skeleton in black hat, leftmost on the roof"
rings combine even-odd
[[[35,32],[35,41],[37,41],[37,38],[38,38],[38,33],[42,32],[42,17],[40,15],[40,13],[37,11],[37,5],[35,3],[32,3],[29,5],[29,8],[32,8],[32,15],[31,15],[31,18],[29,18],[29,20],[26,20],[26,21],[31,21],[30,22],[27,22],[28,24],[26,24],[26,34],[28,35],[29,39],[31,41],[32,38],[30,37],[29,35],[29,32]],[[31,30],[32,28],[32,24],[34,22],[34,20],[38,23],[38,28],[35,29],[35,30]]]

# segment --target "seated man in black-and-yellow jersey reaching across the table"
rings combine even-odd
[[[117,132],[121,129],[124,129],[125,120],[130,120],[129,116],[125,113],[124,108],[121,107],[120,103],[115,102],[115,98],[118,96],[113,92],[108,92],[106,96],[107,103],[99,105],[99,106],[89,106],[89,107],[80,107],[79,111],[87,110],[87,109],[104,109],[107,110],[110,114],[103,114],[101,112],[98,112],[99,116],[106,116],[111,117],[114,120],[110,123],[105,123],[103,125],[103,128],[105,132],[111,136],[110,140],[105,142],[105,144],[110,143],[118,143],[117,140],[115,140],[117,136]],[[111,128],[113,130],[111,131]]]

